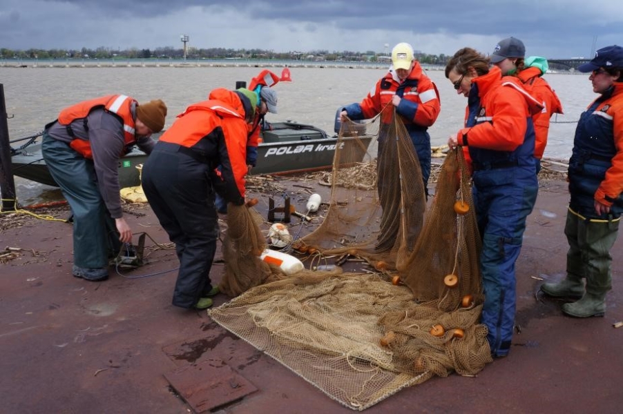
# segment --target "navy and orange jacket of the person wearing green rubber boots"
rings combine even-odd
[[[595,99],[579,118],[569,159],[571,208],[595,218],[594,201],[623,213],[623,83]]]

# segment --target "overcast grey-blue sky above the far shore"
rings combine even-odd
[[[420,5],[420,6],[418,6]],[[492,52],[589,57],[623,45],[620,0],[0,0],[0,47],[26,50],[261,48],[384,52],[401,41],[430,54]]]

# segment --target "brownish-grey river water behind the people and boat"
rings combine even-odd
[[[73,103],[101,95],[122,93],[137,101],[162,99],[169,108],[166,127],[189,103],[201,101],[213,88],[233,88],[236,81],[249,81],[262,68],[255,67],[0,67],[10,139],[32,135],[54,120]],[[281,68],[270,68],[280,75]],[[329,133],[334,130],[337,108],[365,97],[385,69],[291,68],[292,82],[278,83],[278,114],[269,121],[298,121]],[[461,128],[467,99],[457,95],[443,70],[430,70],[441,95],[441,114],[430,128],[433,146],[443,145]],[[556,90],[565,114],[557,121],[577,121],[597,95],[588,75],[550,74],[547,81]],[[575,123],[552,124],[545,157],[568,159],[573,147]],[[19,146],[13,144],[13,146]],[[59,197],[50,187],[16,179],[21,204]]]

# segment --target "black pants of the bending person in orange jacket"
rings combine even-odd
[[[173,305],[191,308],[212,288],[218,217],[207,164],[180,148],[158,142],[143,166],[142,186],[180,259]]]

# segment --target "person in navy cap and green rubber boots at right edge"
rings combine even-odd
[[[562,305],[566,315],[604,316],[612,288],[610,249],[623,213],[623,48],[601,48],[577,70],[591,73],[593,92],[600,96],[579,118],[569,159],[566,277],[541,285],[541,291],[579,298]]]

